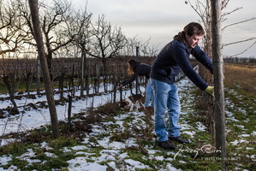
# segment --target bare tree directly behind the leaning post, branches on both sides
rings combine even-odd
[[[17,2],[19,3],[19,13],[26,21],[27,32],[33,37],[31,14],[27,9],[27,3],[24,3],[24,0],[18,0]],[[41,9],[39,20],[42,23],[47,64],[52,78],[52,58],[59,51],[67,51],[66,46],[74,40],[75,35],[78,33],[72,26],[75,14],[71,8],[71,2],[68,0],[53,1],[51,6],[39,3],[39,8]],[[35,45],[33,42],[27,43]]]

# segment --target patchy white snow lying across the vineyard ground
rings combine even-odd
[[[182,114],[180,117],[180,126],[182,127],[182,134],[188,135],[190,137],[190,140],[193,141],[193,136],[197,132],[207,132],[206,127],[199,121],[195,123],[195,126],[189,124],[187,121],[183,120],[182,118],[185,118],[186,115],[189,112],[193,112],[192,103],[196,100],[196,97],[193,97],[193,95],[190,95],[191,89],[193,89],[194,85],[193,83],[188,80],[187,78],[179,81],[177,83],[177,86],[180,88],[180,100],[182,102]],[[103,90],[101,90],[103,91]],[[124,93],[125,94],[125,93]],[[1,95],[2,97],[6,95]],[[67,96],[67,95],[66,95]],[[129,91],[126,93],[126,97],[129,96]],[[119,97],[117,95],[117,97]],[[56,96],[55,99],[58,99],[59,97]],[[117,99],[118,100],[118,99]],[[21,99],[16,100],[15,102],[21,106],[26,103],[36,103],[38,101],[46,101],[45,97],[39,97],[37,96],[37,99]],[[105,94],[103,96],[94,97],[93,99],[93,107],[98,107],[104,103],[110,102],[110,94]],[[0,102],[0,108],[6,108],[7,106],[10,106],[10,102],[8,100],[4,102]],[[92,97],[88,97],[86,99],[76,100],[73,103],[72,108],[72,114],[80,113],[81,111],[86,111],[87,108],[92,107]],[[20,111],[24,111],[24,113],[21,113],[20,115],[14,115],[9,116],[8,118],[4,118],[0,120],[0,130],[2,130],[2,134],[8,134],[8,133],[16,133],[16,132],[23,132],[27,131],[33,128],[37,128],[40,126],[44,126],[45,124],[49,124],[50,121],[50,114],[48,109],[22,109],[20,108]],[[232,114],[227,111],[229,119],[232,119]],[[68,104],[66,106],[57,105],[57,116],[59,121],[66,121],[68,115]],[[133,125],[146,125],[145,121],[143,121],[144,112],[139,111],[132,111],[127,112],[125,114],[119,115],[118,117],[115,117],[116,125],[118,125],[119,129],[122,130],[122,124],[123,120],[133,115]],[[82,144],[84,145],[78,145],[74,146],[71,149],[69,148],[63,148],[63,152],[70,152],[71,150],[75,151],[75,154],[77,157],[75,157],[72,160],[68,161],[68,170],[72,171],[106,171],[107,168],[112,168],[115,171],[118,170],[140,170],[140,169],[152,169],[150,166],[136,161],[132,158],[129,158],[128,154],[126,152],[122,152],[122,149],[132,146],[138,146],[139,144],[136,143],[136,139],[127,139],[125,143],[117,142],[117,141],[110,141],[110,137],[104,137],[101,139],[98,139],[98,145],[103,147],[103,150],[100,150],[100,155],[95,155],[91,152],[85,152],[85,150],[89,150],[90,146],[88,144],[91,144],[89,139],[91,137],[95,137],[97,139],[97,136],[100,134],[103,134],[105,131],[104,127],[113,125],[113,122],[103,122],[100,125],[94,125],[92,127],[92,133],[87,135],[87,138],[83,139]],[[254,132],[255,136],[256,132]],[[241,139],[231,142],[230,144],[237,144],[241,143],[243,137],[252,136],[252,135],[241,135]],[[11,141],[11,139],[0,139],[1,145],[7,144]],[[155,142],[155,139],[152,139],[152,143]],[[41,148],[45,148],[47,151],[50,147],[47,143],[41,143],[38,144]],[[171,156],[174,157],[164,157],[162,154],[163,151],[156,150],[151,147],[145,147],[147,153],[149,154],[147,157],[147,160],[154,160],[159,162],[165,162],[163,168],[158,168],[158,171],[176,171],[181,170],[175,168],[170,161],[177,160],[177,162],[180,162],[182,164],[186,165],[186,162],[180,160],[180,156],[183,156],[182,152],[177,154],[174,151],[165,151]],[[194,152],[194,151],[191,151]],[[51,156],[52,158],[57,157],[56,155],[46,152],[46,156]],[[195,154],[194,154],[195,155]],[[35,151],[32,149],[27,150],[26,153],[24,153],[22,156],[20,156],[21,159],[27,160],[27,162],[33,163],[44,163],[44,161],[35,160],[33,159],[33,156],[35,156]],[[255,160],[255,156],[253,156]],[[7,171],[7,170],[15,170],[15,166],[11,166],[8,169],[3,169],[3,166],[6,165],[9,161],[12,160],[12,155],[9,154],[9,156],[0,156],[0,171]],[[101,164],[105,163],[105,164]],[[117,166],[118,165],[118,166]],[[55,169],[52,169],[55,170]]]

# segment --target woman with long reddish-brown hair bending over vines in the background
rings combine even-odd
[[[147,79],[147,84],[146,84],[146,99],[145,99],[145,108],[152,108],[154,106],[154,98],[152,97],[152,86],[149,78],[149,74],[151,71],[151,66],[147,65],[146,63],[140,63],[136,62],[134,59],[131,59],[128,61],[128,74],[132,75],[130,79],[125,80],[122,82],[120,87],[124,85],[128,85],[129,83],[133,82],[137,76],[145,76]],[[152,97],[152,103],[149,106],[150,99]]]

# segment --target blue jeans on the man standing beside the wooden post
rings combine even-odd
[[[155,114],[155,133],[158,136],[158,142],[168,140],[168,137],[180,136],[178,121],[181,112],[181,103],[178,97],[178,88],[176,84],[167,84],[159,80],[153,80],[152,90],[155,96],[154,114]],[[169,116],[168,132],[164,120],[165,115]]]

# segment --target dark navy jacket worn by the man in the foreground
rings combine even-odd
[[[188,61],[190,54],[202,63],[205,68],[210,70],[212,74],[211,59],[199,48],[199,45],[189,50],[182,42],[173,40],[169,44],[166,44],[158,54],[152,65],[150,77],[171,85],[175,82],[176,75],[182,69],[183,73],[186,74],[193,84],[197,85],[202,91],[205,91],[208,84],[193,70]]]

